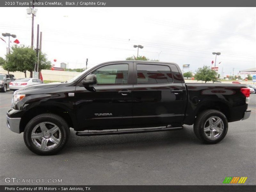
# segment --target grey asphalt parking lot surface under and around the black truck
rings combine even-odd
[[[221,185],[228,176],[256,184],[255,94],[250,118],[229,123],[226,138],[215,145],[201,144],[188,125],[179,131],[92,137],[71,131],[67,146],[54,156],[32,153],[23,133],[7,128],[12,94],[0,93],[0,185]],[[6,183],[6,177],[62,182]]]

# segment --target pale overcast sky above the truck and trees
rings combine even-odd
[[[15,34],[20,44],[30,46],[32,18],[26,9],[0,7],[0,35]],[[144,48],[139,55],[181,68],[190,64],[184,72],[213,67],[212,52],[221,52],[216,62],[219,73],[232,75],[234,68],[236,75],[255,67],[255,20],[255,7],[38,7],[34,46],[39,24],[42,52],[56,67],[64,62],[68,68],[85,68],[86,58],[88,67],[125,60],[137,56],[133,45],[140,44]],[[6,47],[0,39],[0,57],[5,58]]]

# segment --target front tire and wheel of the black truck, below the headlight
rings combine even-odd
[[[69,133],[68,124],[62,117],[44,113],[28,122],[23,138],[33,153],[53,155],[66,145]]]

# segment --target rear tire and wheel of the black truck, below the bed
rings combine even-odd
[[[218,110],[205,110],[196,117],[194,132],[204,143],[218,143],[228,132],[227,117]]]

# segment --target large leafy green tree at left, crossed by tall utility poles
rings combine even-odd
[[[30,47],[13,46],[12,53],[7,55],[7,62],[3,65],[5,70],[9,71],[21,71],[27,77],[27,71],[33,71],[35,69],[35,63],[37,62],[36,52]],[[38,69],[50,69],[51,62],[47,60],[46,54],[39,52],[39,66]],[[30,73],[30,77],[32,74]]]

